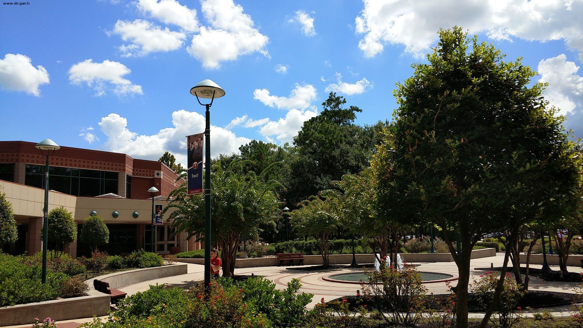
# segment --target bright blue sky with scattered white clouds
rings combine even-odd
[[[0,140],[184,161],[202,132],[189,94],[203,79],[212,153],[291,141],[330,90],[391,120],[392,90],[454,25],[524,57],[583,137],[583,1],[30,1],[0,6]]]

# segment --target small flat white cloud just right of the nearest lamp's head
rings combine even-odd
[[[271,96],[268,89],[255,89],[253,92],[253,99],[259,100],[265,106],[278,107],[278,109],[306,109],[316,96],[316,88],[313,85],[301,86],[297,83],[289,97]]]

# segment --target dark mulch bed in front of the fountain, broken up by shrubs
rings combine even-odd
[[[446,295],[426,295],[427,307],[430,309],[441,310],[448,303],[448,294]],[[373,296],[376,298],[376,296]],[[345,296],[349,302],[349,308],[354,309],[359,306],[367,305],[367,308],[375,308],[375,301],[366,299],[363,296]],[[340,300],[342,298],[336,298]],[[576,294],[567,294],[560,292],[546,292],[546,291],[529,291],[524,295],[518,306],[523,309],[530,308],[550,308],[553,306],[568,305],[580,301],[581,296]],[[470,301],[468,302],[470,312],[484,312],[484,308],[472,298],[470,294]]]

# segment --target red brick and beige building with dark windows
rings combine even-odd
[[[35,253],[42,247],[45,157],[35,145],[0,141],[0,186],[12,203],[19,229],[19,240],[4,247],[13,254]],[[49,210],[64,206],[79,229],[91,212],[97,212],[110,229],[110,243],[101,247],[110,254],[152,250],[152,195],[147,190],[160,190],[154,203],[165,207],[168,194],[182,182],[175,182],[178,176],[164,163],[91,149],[62,146],[50,156],[49,166]],[[154,230],[157,253],[169,253],[170,247],[200,248],[184,233],[174,235],[168,222]],[[89,248],[76,242],[68,252],[81,256]]]

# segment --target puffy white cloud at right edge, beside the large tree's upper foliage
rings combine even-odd
[[[545,99],[560,109],[558,115],[567,117],[565,127],[583,137],[583,76],[577,75],[578,70],[565,54],[541,60],[538,67],[539,82],[549,83]]]

